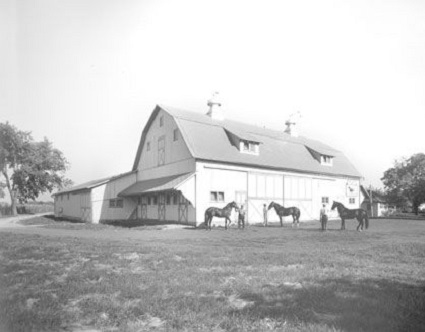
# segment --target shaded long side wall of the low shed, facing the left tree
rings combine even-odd
[[[91,222],[90,191],[55,196],[55,217]]]

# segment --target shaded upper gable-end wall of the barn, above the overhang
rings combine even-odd
[[[163,125],[160,126],[160,119]],[[186,142],[178,131],[177,140],[174,140],[174,130],[178,129],[174,118],[160,110],[146,134],[142,153],[138,165],[140,178],[155,178],[184,173],[187,167],[193,164],[193,158]],[[150,145],[148,151],[147,145]],[[192,160],[192,163],[188,163]],[[192,165],[193,169],[193,165]]]

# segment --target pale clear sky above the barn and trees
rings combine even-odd
[[[425,1],[0,0],[0,122],[75,184],[131,170],[157,104],[299,133],[380,179],[425,152]]]

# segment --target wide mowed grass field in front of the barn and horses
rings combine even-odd
[[[1,331],[425,330],[423,221],[46,225],[0,232]]]

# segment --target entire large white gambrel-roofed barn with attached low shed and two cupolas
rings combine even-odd
[[[232,201],[244,204],[248,223],[262,222],[272,201],[299,207],[301,221],[318,219],[333,200],[360,206],[361,174],[342,152],[298,136],[294,119],[277,131],[227,119],[214,99],[208,106],[206,114],[156,106],[132,170],[58,192],[55,214],[197,226],[208,207]],[[277,220],[270,211],[269,221]]]

